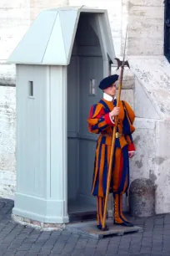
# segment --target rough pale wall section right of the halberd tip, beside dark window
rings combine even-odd
[[[128,23],[128,55],[163,54],[163,2],[163,0],[122,1],[122,17],[123,20],[127,19]]]

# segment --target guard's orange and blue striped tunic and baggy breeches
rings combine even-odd
[[[115,141],[115,151],[112,161],[112,179],[110,192],[123,194],[129,186],[128,151],[134,151],[132,133],[135,130],[134,112],[126,101],[120,101],[117,132],[119,137]],[[107,171],[111,153],[113,123],[109,112],[113,109],[112,101],[100,100],[92,105],[87,120],[89,131],[100,134],[97,147],[92,178],[92,195],[105,197],[107,189]],[[101,205],[101,204],[100,204]]]

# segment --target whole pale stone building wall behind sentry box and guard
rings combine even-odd
[[[165,2],[165,3],[164,3]],[[9,54],[43,9],[62,5],[106,8],[117,57],[121,57],[128,26],[122,98],[136,111],[137,147],[131,177],[150,177],[156,185],[156,212],[170,212],[169,1],[163,0],[2,0],[0,3],[0,196],[12,197],[16,186],[15,66]],[[164,15],[165,14],[165,15]],[[112,67],[112,73],[115,67]]]

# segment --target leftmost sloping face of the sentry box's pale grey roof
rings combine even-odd
[[[42,64],[56,17],[57,12],[40,13],[17,48],[14,49],[7,62],[16,64]]]

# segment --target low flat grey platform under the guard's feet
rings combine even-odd
[[[104,238],[105,236],[118,235],[122,236],[126,233],[143,232],[143,228],[138,226],[123,227],[121,225],[113,225],[112,219],[107,220],[108,231],[100,231],[96,227],[96,221],[87,221],[80,223],[68,223],[66,228],[72,233],[83,234],[95,238]]]

